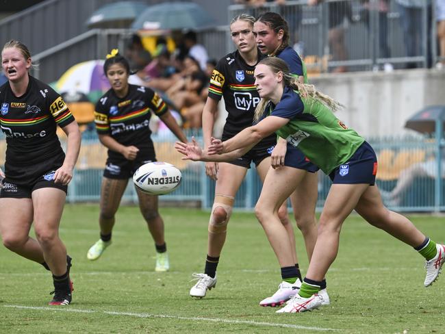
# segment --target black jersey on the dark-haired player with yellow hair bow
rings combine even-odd
[[[110,89],[97,102],[94,122],[97,133],[109,135],[125,146],[139,149],[138,156],[153,151],[149,128],[151,112],[162,116],[168,111],[161,97],[150,88],[129,85],[128,94],[120,99]],[[108,150],[111,159],[125,159],[115,151]]]

